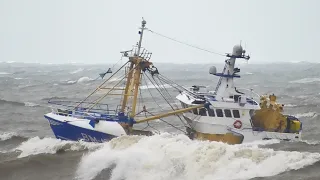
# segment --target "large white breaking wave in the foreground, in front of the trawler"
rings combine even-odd
[[[116,179],[250,179],[300,169],[320,160],[319,153],[274,151],[256,144],[227,145],[192,141],[168,133],[123,136],[82,157],[77,179],[94,179],[110,170]]]

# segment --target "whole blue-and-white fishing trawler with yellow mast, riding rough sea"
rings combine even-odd
[[[233,53],[227,54],[229,59],[222,73],[217,73],[215,67],[210,68],[210,74],[220,77],[216,90],[200,92],[201,86],[187,89],[159,73],[150,61],[152,53],[142,47],[143,34],[149,30],[145,26],[143,20],[139,41],[133,49],[121,52],[121,57],[128,58],[128,61],[115,72],[109,69],[108,73],[100,74],[102,79],[106,74],[111,75],[86,98],[81,101],[49,100],[52,112],[44,117],[56,138],[101,143],[124,135],[152,135],[154,131],[141,129],[139,125],[149,127],[150,121],[161,120],[175,127],[163,118],[177,116],[186,131],[175,128],[191,139],[229,144],[261,139],[300,139],[301,122],[295,117],[282,115],[283,107],[275,102],[275,96],[270,96],[270,105],[264,96],[258,104],[235,88],[233,78],[240,77],[237,74],[240,69],[234,68],[235,60],[249,59],[241,46],[235,46]],[[158,108],[149,107],[143,99],[141,86],[144,81],[156,88],[157,96],[160,94],[159,97],[165,99],[171,109],[164,110],[159,104]],[[176,98],[182,108],[175,102],[170,104],[174,98],[166,90],[166,85],[179,91]],[[148,90],[148,83],[145,86]],[[154,99],[151,91],[149,93]],[[155,104],[157,101],[154,99]]]

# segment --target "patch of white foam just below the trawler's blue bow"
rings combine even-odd
[[[102,144],[63,141],[55,138],[39,138],[33,137],[25,142],[22,142],[14,151],[19,151],[21,154],[18,158],[23,158],[36,154],[55,154],[59,150],[65,151],[79,151],[84,149],[96,149]]]

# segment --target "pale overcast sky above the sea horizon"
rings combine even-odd
[[[212,51],[242,40],[249,63],[318,62],[318,0],[0,0],[0,61],[115,63],[155,32]],[[224,57],[150,32],[153,62],[217,63]]]

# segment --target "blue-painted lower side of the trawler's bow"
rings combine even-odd
[[[57,121],[48,116],[44,117],[48,119],[50,127],[57,139],[69,141],[83,140],[86,142],[102,143],[117,137],[110,134],[73,126],[67,122]]]

